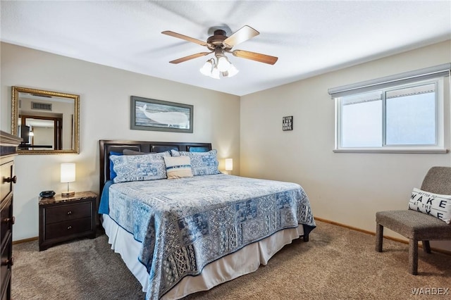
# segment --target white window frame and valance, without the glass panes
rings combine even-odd
[[[358,153],[437,153],[445,154],[445,94],[450,98],[450,80],[443,77],[450,75],[451,63],[431,68],[416,70],[400,75],[383,77],[377,80],[359,82],[344,87],[329,89],[329,94],[335,100],[335,147],[334,152]],[[432,71],[431,71],[432,70]],[[448,77],[450,78],[450,77]],[[385,111],[383,111],[383,144],[375,147],[343,147],[341,146],[341,98],[342,96],[361,94],[364,92],[383,90],[383,110],[385,110],[385,92],[402,89],[414,85],[435,83],[435,141],[433,145],[387,145],[385,144]],[[445,87],[447,85],[447,87]],[[449,132],[449,130],[448,130]]]

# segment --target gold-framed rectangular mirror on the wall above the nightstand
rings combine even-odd
[[[11,134],[18,154],[80,153],[80,96],[12,87]]]

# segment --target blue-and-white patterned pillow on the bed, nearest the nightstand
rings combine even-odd
[[[146,155],[110,156],[117,174],[114,183],[166,178],[164,156],[171,156],[171,154],[166,151]]]

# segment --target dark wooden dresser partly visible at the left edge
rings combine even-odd
[[[11,299],[11,266],[13,265],[13,184],[14,157],[22,139],[0,131],[0,221],[1,221],[1,300]]]

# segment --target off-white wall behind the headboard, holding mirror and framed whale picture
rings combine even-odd
[[[11,86],[80,95],[80,154],[16,158],[13,240],[37,237],[39,192],[67,188],[59,182],[60,163],[77,163],[71,189],[99,192],[99,139],[211,142],[219,158],[234,158],[238,173],[240,97],[11,44],[1,43],[0,51],[1,130],[11,132]],[[194,132],[130,130],[132,95],[194,105]]]

